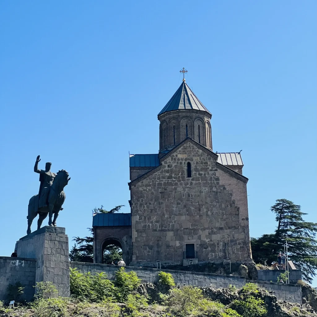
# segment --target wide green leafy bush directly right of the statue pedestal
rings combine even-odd
[[[77,268],[70,268],[69,285],[71,294],[82,300],[101,302],[113,298],[113,283],[104,272],[83,274]]]

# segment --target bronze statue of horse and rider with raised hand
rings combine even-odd
[[[31,233],[31,224],[33,219],[39,215],[37,220],[37,229],[41,228],[43,220],[49,215],[49,226],[56,227],[56,219],[60,210],[63,210],[63,205],[66,195],[64,187],[68,184],[70,178],[65,170],[58,171],[56,174],[51,172],[52,163],[45,164],[45,170],[38,169],[40,156],[36,158],[34,171],[40,174],[40,190],[38,195],[34,195],[29,200],[28,208],[28,230],[27,234]],[[54,219],[52,217],[54,214]]]

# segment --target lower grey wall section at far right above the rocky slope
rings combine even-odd
[[[280,301],[290,301],[292,303],[302,303],[301,285],[272,283],[265,281],[246,281],[247,283],[256,283],[258,286],[272,291]]]

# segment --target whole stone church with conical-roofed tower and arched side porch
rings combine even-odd
[[[94,261],[115,244],[132,266],[251,262],[240,152],[212,150],[211,113],[182,84],[158,114],[159,153],[130,155],[130,214],[93,217]]]

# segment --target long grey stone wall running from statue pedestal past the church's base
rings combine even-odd
[[[115,272],[120,268],[117,265],[96,264],[96,263],[83,263],[83,262],[70,262],[71,268],[78,268],[82,273],[101,273],[105,272],[109,279],[114,279]],[[142,283],[154,283],[158,281],[158,272],[161,271],[156,268],[138,268],[138,267],[125,267],[127,272],[134,271],[142,280]],[[162,270],[171,273],[177,285],[191,285],[203,286],[213,288],[227,288],[230,284],[236,287],[245,285],[245,277],[209,274],[209,273],[196,273],[187,271],[174,271]]]

